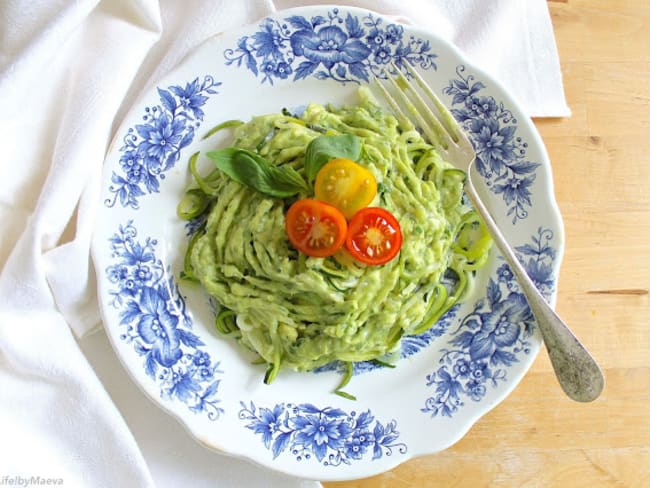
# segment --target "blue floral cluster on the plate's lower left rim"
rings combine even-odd
[[[216,420],[223,413],[217,397],[223,373],[205,344],[190,328],[192,321],[172,273],[156,257],[156,239],[136,239],[133,221],[111,237],[106,268],[110,306],[119,310],[120,339],[142,356],[144,370],[160,388],[161,398],[181,401],[196,413]]]

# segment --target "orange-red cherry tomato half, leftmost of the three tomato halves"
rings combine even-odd
[[[310,198],[298,200],[289,207],[284,226],[296,249],[317,258],[336,253],[345,242],[348,228],[340,210]]]

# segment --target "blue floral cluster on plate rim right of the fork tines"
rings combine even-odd
[[[531,188],[539,163],[526,159],[528,143],[517,137],[517,119],[510,109],[480,91],[486,86],[473,75],[464,76],[465,66],[456,69],[457,79],[443,92],[452,96],[451,113],[464,127],[476,150],[476,169],[508,206],[512,223],[528,217]]]

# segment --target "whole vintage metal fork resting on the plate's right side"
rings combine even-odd
[[[528,300],[560,385],[573,400],[595,400],[605,384],[600,367],[546,302],[481,201],[471,177],[476,152],[467,135],[413,66],[409,64],[406,69],[420,90],[394,63],[391,65],[394,75],[388,71],[384,72],[388,88],[377,78],[373,80],[373,86],[397,116],[401,127],[411,128],[415,125],[420,128],[428,142],[435,146],[447,161],[465,171],[465,193],[483,219]],[[430,103],[425,102],[421,93]]]

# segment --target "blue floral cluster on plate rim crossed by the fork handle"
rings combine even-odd
[[[545,295],[555,287],[552,264],[556,256],[551,246],[553,233],[539,228],[532,244],[516,247],[518,259]],[[491,384],[507,381],[507,368],[530,353],[535,320],[524,295],[519,291],[510,267],[502,264],[497,281],[490,278],[485,298],[449,333],[448,349],[442,349],[440,366],[426,378],[435,394],[426,399],[424,413],[451,417],[464,405],[463,398],[480,401]]]

